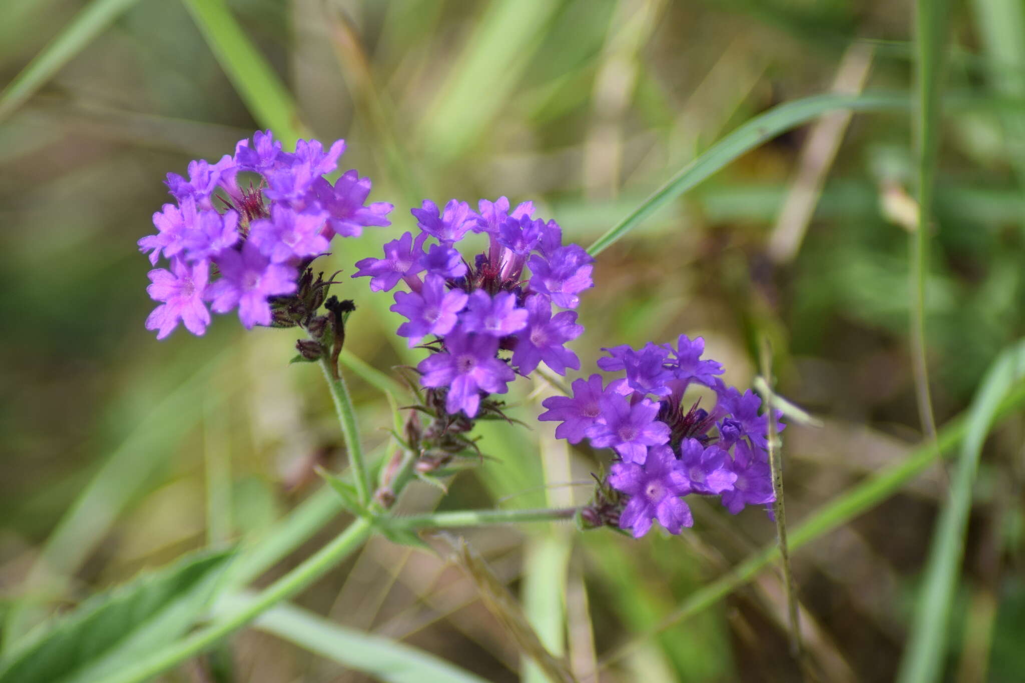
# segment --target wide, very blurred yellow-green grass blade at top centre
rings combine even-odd
[[[473,23],[474,34],[421,120],[426,156],[444,164],[457,158],[505,105],[544,37],[557,0],[495,0]]]

